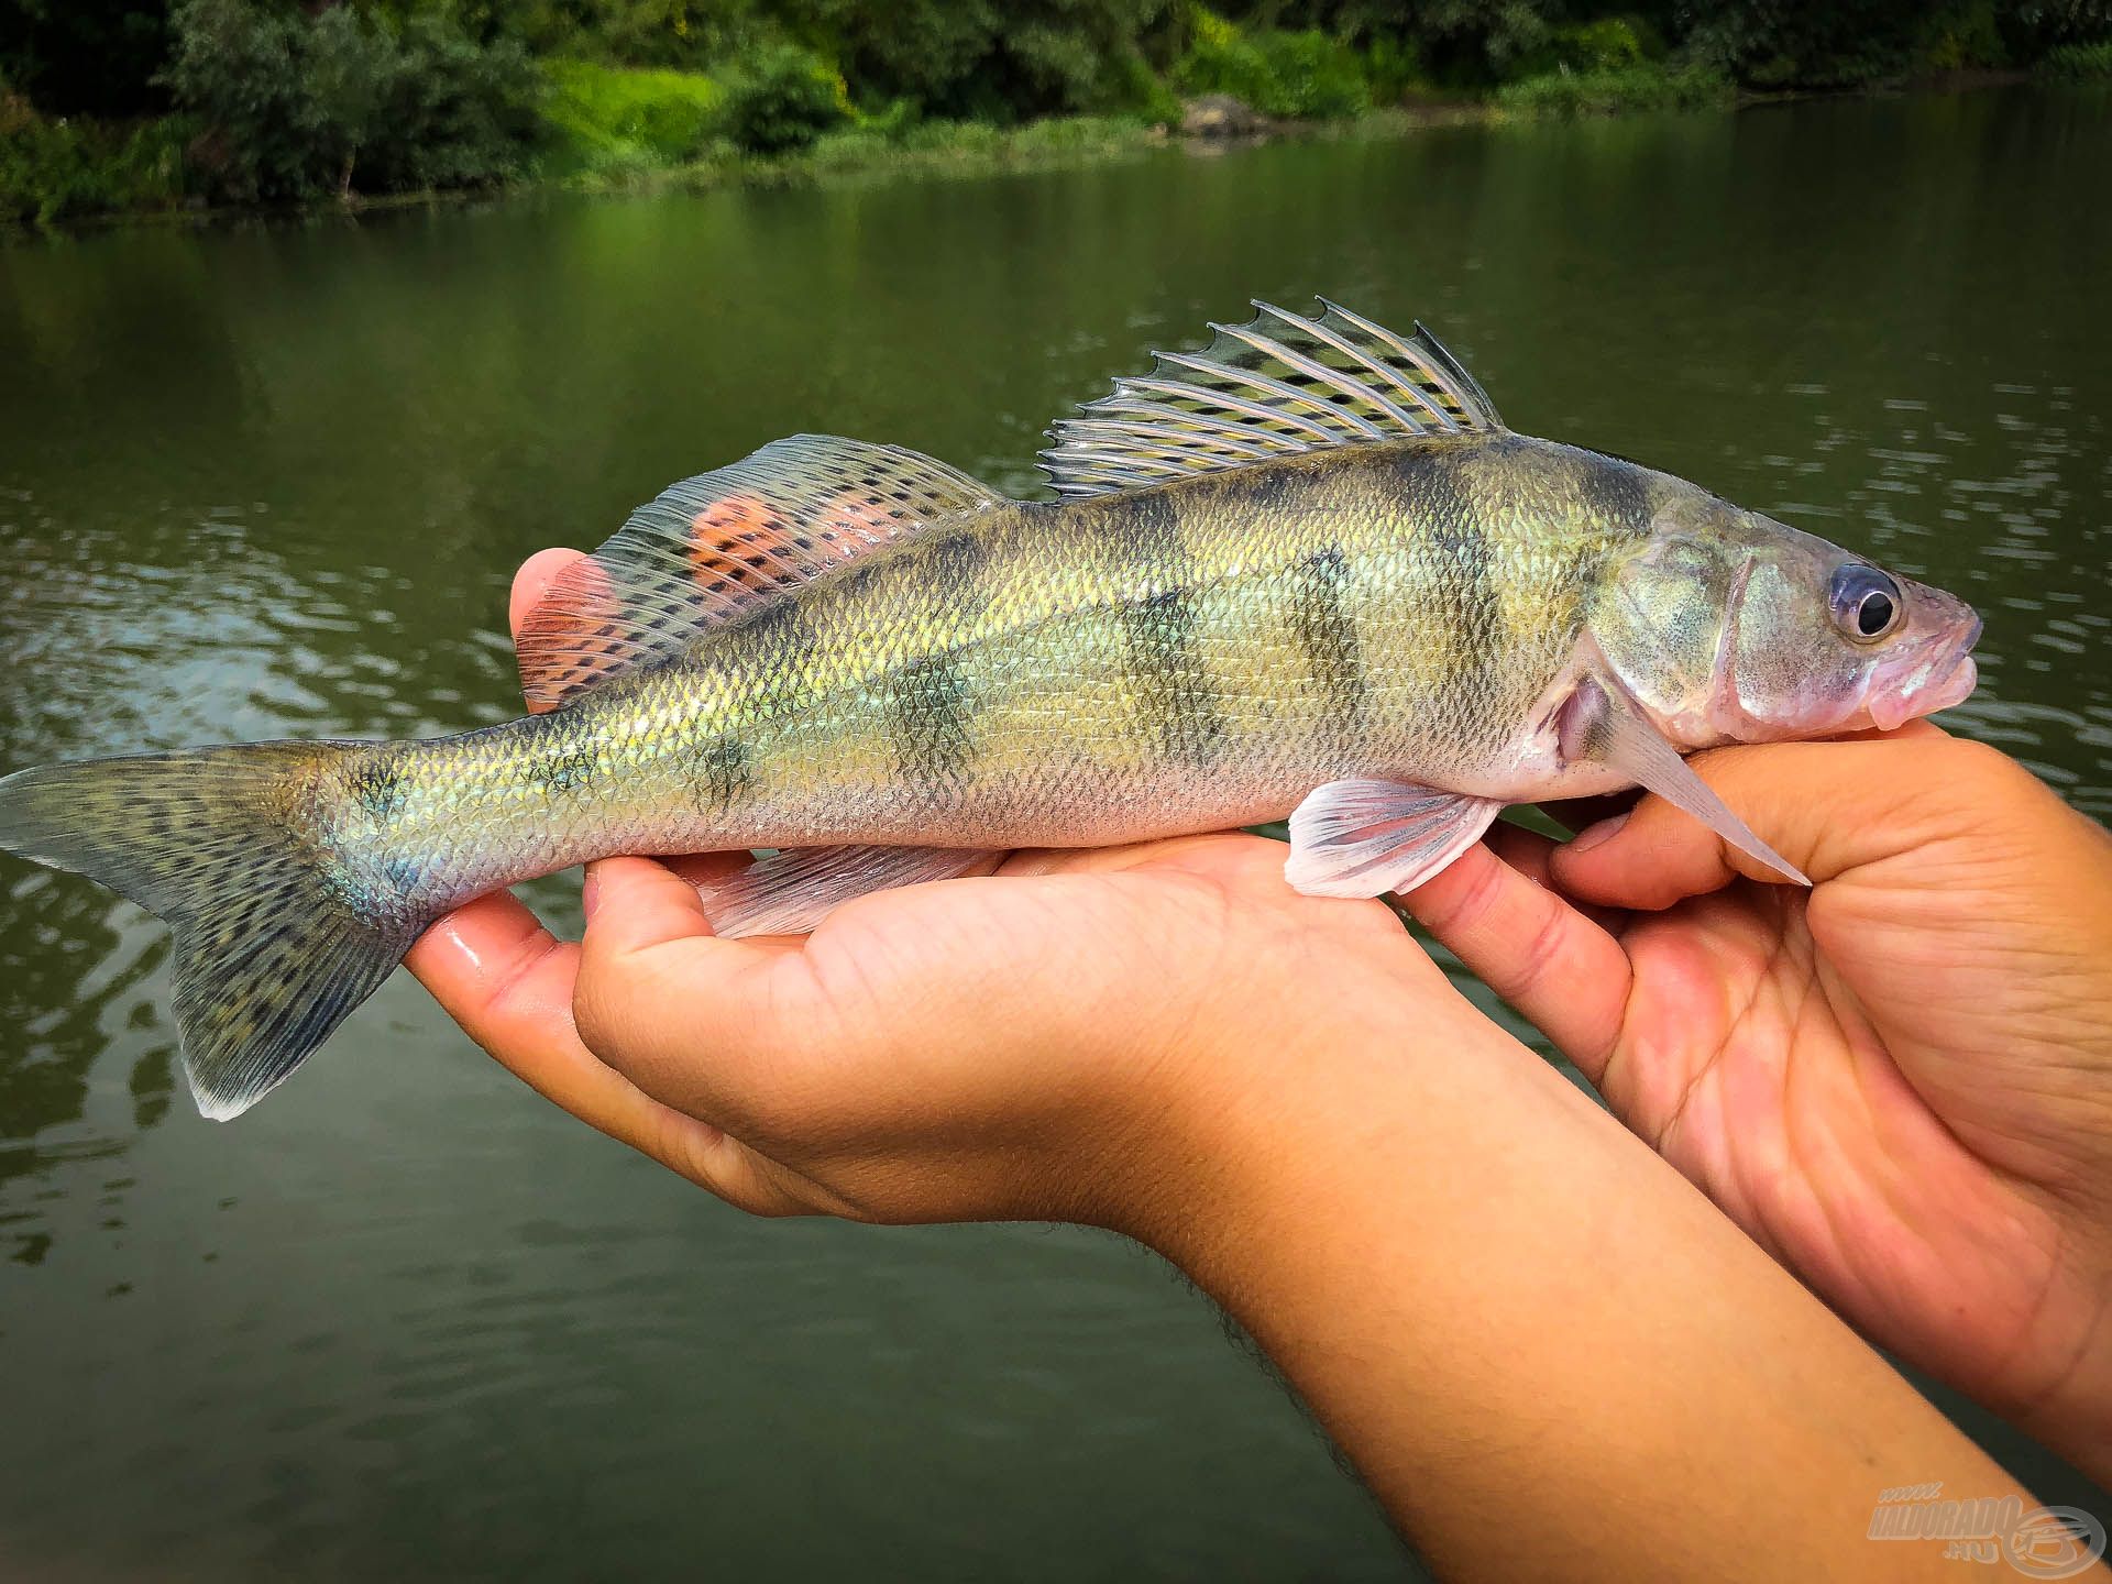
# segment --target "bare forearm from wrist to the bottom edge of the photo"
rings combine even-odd
[[[1440,1571],[1926,1571],[1865,1538],[1880,1489],[2015,1489],[1677,1172],[1459,1012],[1314,1031],[1269,1094],[1212,1098],[1189,1153],[1231,1166],[1155,1238]]]

